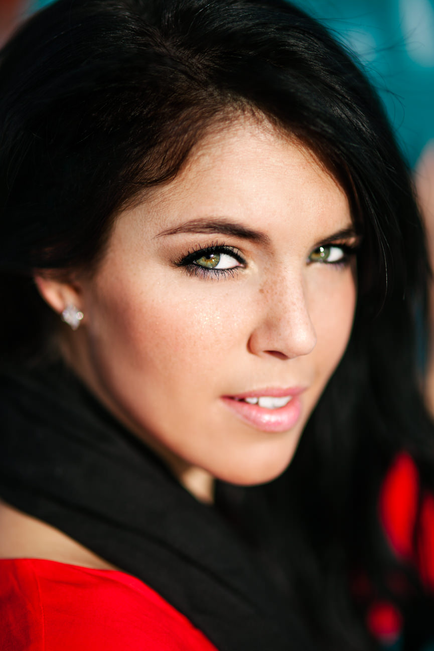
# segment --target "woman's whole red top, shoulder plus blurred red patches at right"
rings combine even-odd
[[[418,570],[432,594],[434,497],[421,488],[406,452],[396,456],[383,482],[379,516],[394,553]],[[384,643],[396,641],[401,613],[370,597],[369,630]],[[1,651],[217,651],[139,579],[55,561],[0,560],[0,622]]]

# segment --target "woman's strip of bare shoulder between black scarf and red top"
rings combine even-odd
[[[76,540],[0,501],[0,559],[34,558],[99,570],[117,569]]]

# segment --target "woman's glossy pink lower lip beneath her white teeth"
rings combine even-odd
[[[251,405],[226,396],[222,397],[222,400],[242,421],[263,432],[291,430],[297,424],[301,414],[301,402],[298,396],[293,396],[287,405],[278,409],[265,409],[257,404]]]

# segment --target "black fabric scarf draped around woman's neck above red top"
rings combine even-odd
[[[0,495],[10,505],[147,583],[220,651],[311,648],[219,509],[184,490],[63,365],[3,369],[0,409]]]

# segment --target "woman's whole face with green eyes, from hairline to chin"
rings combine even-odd
[[[237,122],[117,219],[76,284],[72,363],[179,473],[268,481],[347,346],[355,243],[347,197],[313,155]]]

